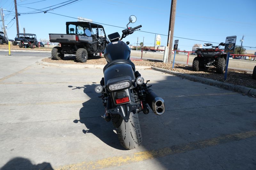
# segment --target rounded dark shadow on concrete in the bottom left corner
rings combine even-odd
[[[29,159],[16,157],[9,160],[1,170],[53,170],[50,163],[43,162],[42,164],[33,165]]]

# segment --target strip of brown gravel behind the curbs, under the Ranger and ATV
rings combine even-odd
[[[64,60],[52,60],[51,58],[45,58],[42,61],[59,64],[107,64],[106,59],[100,56],[90,57],[86,63],[76,63],[74,55],[65,56]],[[135,66],[150,66],[165,70],[172,70],[172,64],[168,63],[152,62],[147,60],[135,60],[132,62],[135,64]],[[208,68],[202,71],[193,71],[191,65],[175,64],[172,71],[256,89],[256,80],[252,79],[252,72],[250,71],[228,70],[228,78],[226,81],[224,80],[224,74],[217,74],[215,68]]]

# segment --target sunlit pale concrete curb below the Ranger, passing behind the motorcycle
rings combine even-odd
[[[103,69],[105,65],[103,64],[57,64],[57,63],[48,63],[42,60],[38,60],[36,62],[40,65],[45,66],[55,66],[55,67],[64,67],[64,68],[96,68],[96,69]],[[151,66],[136,66],[136,69],[149,69]]]

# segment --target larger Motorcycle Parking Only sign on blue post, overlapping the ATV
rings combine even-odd
[[[230,53],[235,52],[235,47],[236,47],[236,36],[226,37],[224,52],[228,53],[228,55],[226,58],[226,70],[225,70],[225,77],[224,77],[225,80],[227,80],[229,56],[230,56]]]

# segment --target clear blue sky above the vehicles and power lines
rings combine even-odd
[[[17,0],[17,8],[19,13],[35,11],[30,8],[46,8],[43,9],[44,11],[49,10],[49,6],[66,1],[68,0]],[[7,33],[9,39],[14,39],[17,33],[15,19],[13,19],[15,14],[14,1],[0,0],[0,6],[7,10],[4,11],[5,25],[10,22],[7,27]],[[114,32],[121,34],[123,29],[114,26],[126,27],[129,22],[129,16],[135,15],[137,21],[129,26],[142,25],[141,31],[151,33],[137,31],[127,36],[123,41],[130,41],[130,44],[134,44],[137,43],[137,37],[139,37],[140,43],[144,37],[146,46],[154,46],[154,33],[156,33],[163,34],[161,35],[161,45],[166,46],[167,36],[164,35],[168,35],[170,6],[170,0],[140,0],[135,2],[78,0],[72,4],[49,11],[74,18],[49,12],[21,14],[19,16],[20,33],[23,32],[23,27],[25,27],[26,33],[35,33],[38,40],[40,38],[49,39],[49,33],[66,33],[65,23],[67,21],[76,21],[75,18],[84,17],[101,23],[107,35]],[[255,6],[255,0],[177,0],[174,36],[209,42],[225,42],[227,36],[236,35],[236,45],[241,45],[240,39],[245,35],[243,46],[254,47],[245,47],[246,49],[256,49]],[[0,25],[2,25],[1,22]],[[173,38],[173,40],[176,39],[179,39],[180,50],[191,51],[195,43],[204,43],[202,41]]]

